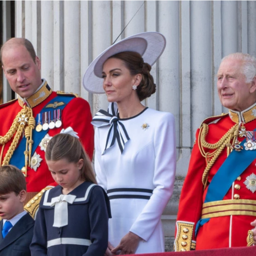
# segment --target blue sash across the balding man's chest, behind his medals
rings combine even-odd
[[[48,112],[51,109],[61,109],[63,110],[66,105],[70,102],[71,99],[73,99],[74,96],[60,96],[57,95],[55,98],[53,98],[50,102],[47,102],[47,104],[44,106],[44,108],[42,108],[41,110],[41,114],[44,112]],[[45,109],[45,107],[49,104],[52,104],[54,102],[64,102],[65,104],[62,106],[58,106],[58,108],[47,108]],[[36,116],[36,120],[37,120],[38,115]],[[32,155],[35,152],[35,149],[38,147],[39,143],[41,142],[41,140],[44,138],[44,136],[47,134],[49,129],[47,129],[46,131],[42,130],[40,132],[37,132],[35,129],[32,131],[32,138],[34,140],[34,143],[32,144]],[[20,141],[20,144],[17,146],[17,148],[15,149],[12,158],[10,160],[10,164],[16,166],[17,168],[21,169],[24,166],[24,151],[26,149],[26,137],[24,136],[22,138],[22,140]]]

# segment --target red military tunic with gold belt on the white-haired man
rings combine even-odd
[[[237,127],[240,134],[243,127],[241,123],[244,123],[246,131],[253,131],[256,128],[256,104],[241,113],[230,111],[229,115],[212,117],[206,119],[204,123],[209,124],[205,141],[211,144],[217,143],[230,128],[239,123],[240,129],[239,125]],[[256,160],[253,160],[247,169],[234,180],[232,187],[224,195],[222,201],[207,203],[203,206],[209,183],[226,160],[227,146],[230,145],[224,147],[213,163],[204,190],[202,175],[207,162],[201,154],[202,150],[200,151],[200,148],[203,148],[207,154],[212,153],[215,149],[202,147],[201,131],[198,129],[196,133],[189,170],[181,191],[176,222],[175,250],[246,246],[248,230],[252,229],[250,222],[256,219],[256,193],[254,193],[256,190],[256,176],[253,176],[253,174],[256,175]],[[242,141],[244,137],[238,137],[238,140]],[[245,146],[242,144],[241,146],[245,150]],[[212,159],[212,156],[208,160],[210,159]],[[238,157],[237,163],[239,161],[243,161],[243,159]],[[230,163],[230,168],[233,165],[236,165],[236,163]],[[218,186],[215,189],[218,189]],[[210,219],[199,227],[198,234],[195,236],[195,225],[200,218],[207,215],[207,212],[211,213]]]

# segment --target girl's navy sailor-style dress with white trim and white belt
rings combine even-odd
[[[32,256],[103,256],[108,247],[108,218],[111,217],[105,190],[90,182],[76,187],[68,194],[76,196],[72,204],[67,203],[68,224],[53,227],[55,205],[52,202],[60,195],[62,187],[56,186],[41,198],[30,246]]]

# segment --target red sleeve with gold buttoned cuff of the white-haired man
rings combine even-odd
[[[188,173],[181,189],[175,230],[175,251],[180,251],[183,248],[181,243],[185,241],[186,250],[195,249],[195,225],[201,217],[204,192],[202,175],[206,167],[205,158],[198,147],[198,134],[199,129],[196,133]],[[183,239],[184,235],[188,238]]]

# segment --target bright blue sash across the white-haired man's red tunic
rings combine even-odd
[[[256,131],[256,129],[254,131]],[[246,139],[240,144],[244,145],[245,142]],[[208,186],[204,203],[222,200],[236,178],[244,172],[255,158],[256,150],[233,150],[221,165],[220,169],[218,169],[218,172],[213,176],[212,181]],[[210,218],[204,218],[198,221],[195,228],[195,235],[198,232],[199,227],[203,226],[209,220]]]

